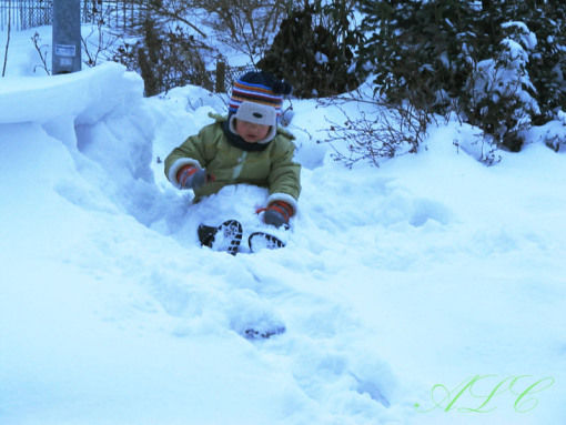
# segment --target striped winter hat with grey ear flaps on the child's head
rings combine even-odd
[[[263,141],[275,136],[283,95],[291,94],[289,83],[267,72],[247,72],[234,82],[229,103],[230,130],[235,133],[234,119],[272,127]]]

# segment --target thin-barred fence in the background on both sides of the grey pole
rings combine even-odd
[[[52,0],[0,0],[0,31],[8,23],[14,31],[49,26],[52,20]],[[128,28],[139,22],[139,7],[134,0],[81,0],[83,23],[98,22],[114,28]]]

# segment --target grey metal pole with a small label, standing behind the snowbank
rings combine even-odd
[[[81,70],[81,0],[53,0],[53,75]]]

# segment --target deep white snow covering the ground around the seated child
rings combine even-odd
[[[294,100],[287,246],[231,256],[196,225],[260,225],[263,190],[192,205],[161,162],[224,100],[144,99],[112,63],[41,77],[27,36],[0,79],[1,424],[566,422],[564,123],[489,168],[438,123],[348,170],[316,143],[342,112]]]

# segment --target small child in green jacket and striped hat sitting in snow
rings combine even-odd
[[[253,184],[269,190],[263,222],[289,226],[296,213],[301,192],[301,165],[293,160],[291,134],[277,128],[283,95],[291,85],[265,72],[249,72],[234,83],[229,114],[213,117],[216,121],[191,135],[165,159],[165,175],[179,189],[192,189],[194,202],[218,193],[226,185]],[[220,231],[220,232],[219,232]],[[242,226],[235,220],[218,227],[200,225],[199,239],[211,246],[220,239],[228,240],[226,250],[237,252]],[[222,237],[219,237],[222,236]],[[256,232],[267,247],[282,246],[273,235]]]

